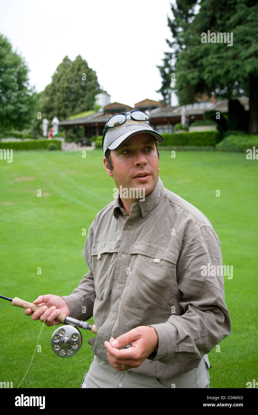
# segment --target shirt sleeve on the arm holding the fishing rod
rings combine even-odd
[[[84,275],[79,286],[70,295],[63,296],[68,304],[70,316],[79,320],[88,320],[93,315],[93,306],[96,298],[94,276],[91,272],[91,251],[93,241],[93,226],[89,232],[84,245],[84,259],[89,267],[89,272]]]

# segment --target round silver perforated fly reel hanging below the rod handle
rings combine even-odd
[[[51,336],[53,352],[60,357],[72,357],[82,345],[82,334],[77,327],[58,327]]]

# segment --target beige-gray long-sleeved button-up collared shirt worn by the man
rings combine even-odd
[[[171,378],[198,367],[230,334],[217,234],[160,178],[144,201],[131,205],[130,215],[118,198],[104,207],[89,228],[83,255],[89,272],[63,298],[72,317],[93,315],[98,333],[89,342],[105,362],[106,340],[151,326],[159,337],[157,356],[128,371]]]

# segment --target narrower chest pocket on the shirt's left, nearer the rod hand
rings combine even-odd
[[[96,241],[92,244],[92,274],[96,296],[101,300],[112,290],[114,267],[120,242]]]

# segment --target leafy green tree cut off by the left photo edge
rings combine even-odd
[[[25,61],[0,34],[0,129],[28,127],[36,100]]]

